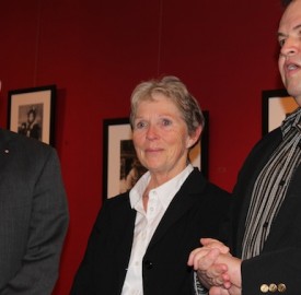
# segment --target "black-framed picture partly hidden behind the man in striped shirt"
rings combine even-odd
[[[263,135],[279,127],[297,107],[294,98],[286,90],[263,91]]]

